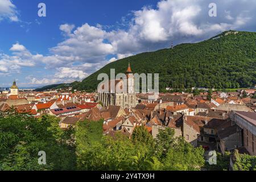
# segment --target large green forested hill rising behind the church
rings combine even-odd
[[[74,89],[96,90],[99,73],[125,73],[130,61],[133,73],[159,73],[159,87],[247,88],[256,84],[256,32],[225,31],[199,43],[140,53],[114,61],[72,83]]]

